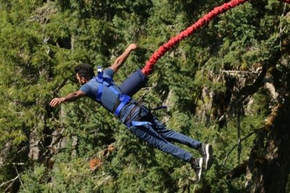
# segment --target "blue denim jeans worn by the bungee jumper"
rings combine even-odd
[[[186,162],[191,160],[192,154],[177,147],[171,142],[182,143],[194,149],[199,148],[201,145],[200,141],[195,141],[189,136],[166,129],[164,125],[143,106],[136,109],[136,113],[128,121],[148,121],[150,124],[146,123],[141,126],[131,126],[128,129],[138,136],[139,139],[143,139],[153,145],[154,148],[162,150],[162,152],[171,154]]]

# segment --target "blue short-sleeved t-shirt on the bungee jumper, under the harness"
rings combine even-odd
[[[111,68],[106,68],[103,72],[103,77],[104,78],[113,78],[114,76],[114,71]],[[107,88],[106,85],[103,86],[103,92],[101,94],[101,101],[97,101],[97,93],[99,90],[99,82],[93,77],[93,79],[90,79],[88,83],[84,84],[81,86],[79,90],[84,92],[86,96],[90,97],[90,99],[93,99],[94,101],[100,103],[104,108],[112,112],[114,109],[114,105],[117,100],[119,100],[119,97],[117,94],[113,92],[110,88]],[[115,84],[115,83],[114,83]],[[112,86],[115,90],[119,92],[119,94],[122,94],[121,90],[117,85]],[[122,122],[124,122],[126,119],[126,116],[128,116],[128,113],[131,112],[133,108],[133,104],[128,104],[125,105],[122,111],[120,112],[119,118],[121,119]]]

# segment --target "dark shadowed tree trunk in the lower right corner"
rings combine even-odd
[[[257,136],[248,165],[252,192],[286,192],[290,172],[289,117],[290,99],[287,98],[273,110],[265,130]]]

